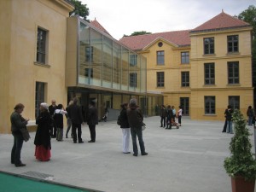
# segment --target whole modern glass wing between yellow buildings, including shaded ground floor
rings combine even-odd
[[[66,67],[67,102],[79,99],[84,120],[91,100],[99,118],[108,108],[108,120],[117,119],[120,104],[131,98],[145,116],[163,103],[162,95],[147,94],[147,59],[79,17],[67,19]]]

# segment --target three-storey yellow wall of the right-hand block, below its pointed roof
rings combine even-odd
[[[247,116],[248,106],[253,106],[251,30],[251,26],[236,26],[190,33],[191,119],[224,119],[229,104]],[[229,38],[237,38],[236,50],[229,51]],[[214,39],[214,53],[204,53],[205,39]],[[206,82],[209,64],[214,69],[213,83]],[[207,99],[214,102],[214,113],[206,112]]]

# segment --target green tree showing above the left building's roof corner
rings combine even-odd
[[[87,5],[83,4],[79,0],[70,0],[70,3],[73,3],[75,9],[69,13],[69,16],[78,15],[84,20],[87,20],[86,17],[89,15],[89,8],[86,7]]]

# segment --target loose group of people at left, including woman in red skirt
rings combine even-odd
[[[96,142],[96,125],[98,124],[98,113],[95,107],[96,103],[91,101],[87,113],[87,125],[90,129],[90,141],[88,143]],[[21,116],[25,106],[18,103],[15,106],[15,111],[10,116],[11,131],[14,136],[14,145],[11,151],[11,163],[16,167],[26,166],[20,160],[20,153],[23,142],[28,141],[30,136],[26,129],[29,119],[24,119]],[[69,102],[66,110],[62,104],[55,104],[52,100],[49,106],[46,102],[42,102],[39,108],[40,112],[36,118],[36,125],[38,125],[36,135],[34,138],[35,157],[40,161],[50,160],[51,154],[51,138],[56,138],[57,141],[63,139],[63,115],[67,117],[67,132],[72,127],[73,143],[84,143],[82,139],[81,125],[84,124],[82,109],[78,105],[78,99],[75,97],[73,101]]]

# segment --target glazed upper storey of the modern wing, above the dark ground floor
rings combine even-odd
[[[79,20],[79,84],[146,93],[147,60]]]

